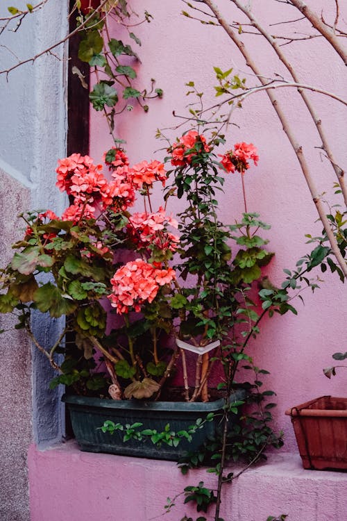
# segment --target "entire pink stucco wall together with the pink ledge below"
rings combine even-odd
[[[231,2],[220,0],[218,3],[228,9],[230,20],[244,21]],[[311,3],[318,10],[323,4],[334,4],[323,0]],[[253,84],[253,77],[221,29],[203,26],[180,15],[180,10],[185,8],[182,1],[146,0],[142,7],[141,0],[134,0],[132,4],[139,15],[146,8],[154,16],[150,25],[133,28],[142,40],[139,53],[143,65],[136,65],[139,83],[149,84],[150,78],[154,77],[158,87],[164,90],[164,99],[153,101],[148,114],[135,109],[131,115],[117,119],[117,134],[127,140],[130,161],[136,163],[142,159],[160,159],[164,155],[162,151],[155,154],[162,146],[154,138],[155,131],[181,122],[173,117],[173,110],[178,115],[187,113],[185,106],[189,98],[185,97],[185,83],[195,81],[199,90],[205,92],[208,106],[216,101],[214,65],[221,69],[234,67],[235,74],[246,77],[249,85]],[[267,26],[283,19],[298,18],[296,11],[285,3],[257,0],[252,4]],[[340,5],[340,9],[344,10],[341,18],[344,15],[346,19],[347,7]],[[328,13],[325,9],[324,15],[333,20],[333,11]],[[300,22],[294,25],[298,32],[310,32],[310,28],[303,27]],[[119,28],[112,30],[115,38],[124,38],[123,33],[119,35]],[[286,26],[270,28],[271,33],[277,34],[285,30]],[[260,38],[244,35],[244,41],[260,60],[264,74],[289,77]],[[303,82],[346,94],[344,65],[319,38],[283,49],[297,65]],[[320,144],[319,137],[296,90],[278,90],[277,97],[284,104],[298,141],[307,153],[318,192],[329,192],[327,197],[331,200],[335,174],[319,154],[319,149],[314,148]],[[316,93],[310,97],[331,135],[337,162],[346,165],[346,108]],[[305,233],[318,234],[321,226],[315,224],[317,216],[310,193],[266,95],[248,98],[242,110],[232,113],[231,121],[238,126],[228,129],[228,143],[253,142],[260,152],[259,166],[247,172],[245,178],[248,206],[272,226],[270,247],[276,251],[276,257],[267,274],[274,283],[280,283],[282,269],[292,269],[296,260],[309,251]],[[181,131],[183,129],[167,133],[174,138]],[[91,142],[90,154],[95,160],[101,159],[103,151],[112,145],[105,121],[95,113],[92,113]],[[242,192],[237,176],[228,176],[220,207],[221,217],[226,222],[240,217]],[[287,407],[318,395],[346,395],[344,374],[329,381],[322,372],[322,367],[330,365],[333,352],[347,349],[346,285],[329,273],[321,278],[324,281],[320,283],[320,290],[314,295],[310,291],[303,295],[305,306],[298,302],[298,317],[275,316],[266,320],[261,336],[251,347],[257,365],[271,372],[266,378],[266,386],[277,392],[278,408],[274,415],[278,429],[285,431],[286,444],[282,452],[271,454],[269,463],[248,470],[226,488],[221,515],[228,521],[264,521],[268,515],[281,513],[289,514],[290,521],[347,519],[347,475],[303,470],[296,454],[290,420],[284,415]],[[180,493],[187,484],[203,480],[214,486],[214,477],[205,470],[183,477],[171,462],[86,454],[79,452],[74,442],[44,451],[32,446],[28,466],[31,521],[160,519],[165,499]],[[185,513],[197,517],[183,506],[182,497],[178,498],[177,504],[178,508],[165,515],[165,520],[177,521]]]

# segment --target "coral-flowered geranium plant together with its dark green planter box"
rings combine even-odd
[[[257,163],[257,152],[252,144],[238,143],[218,160],[215,150],[221,143],[218,135],[208,142],[198,131],[185,133],[167,149],[168,172],[158,160],[130,166],[124,150],[112,147],[103,158],[108,178],[89,156],[72,154],[59,160],[56,170],[69,208],[61,217],[51,210],[22,215],[24,238],[13,246],[12,261],[1,271],[0,312],[17,314],[16,327],[26,329],[58,371],[51,386],[67,386],[64,399],[83,449],[119,452],[124,439],[146,436],[152,442],[159,436],[169,447],[185,438],[191,447],[197,431],[215,433],[219,420],[211,412],[237,413],[242,400],[230,393],[239,363],[255,372],[253,386],[247,383],[248,390],[255,390],[255,401],[266,395],[260,391],[262,370],[253,366],[245,349],[266,313],[295,311],[287,287],[301,268],[295,276],[289,272],[281,290],[263,284],[258,313],[252,291],[264,283],[262,266],[273,254],[257,231],[269,226],[247,211],[240,222],[223,224],[217,203],[226,173],[239,172],[244,188],[244,174],[250,160]],[[162,204],[154,207],[154,185],[160,184]],[[176,199],[186,203],[179,222],[167,209]],[[135,201],[137,211],[132,212]],[[244,201],[246,210],[245,191]],[[313,263],[313,256],[309,261]],[[52,319],[66,315],[65,329],[49,349],[33,335],[33,309]],[[60,353],[65,355],[62,363],[56,356]],[[183,387],[178,395],[171,389],[173,380],[178,381],[177,367]],[[159,427],[151,423],[139,429],[142,420],[135,411],[146,411],[152,422],[160,408],[175,409],[173,401],[180,402],[174,422],[178,413],[187,414],[183,427],[169,424],[165,415]],[[90,428],[81,414],[92,417],[92,411],[96,420]],[[130,423],[117,421],[118,411],[121,422]],[[247,426],[235,431],[242,450],[240,438],[248,433],[250,417],[256,429],[261,431],[261,425],[266,431],[250,444],[251,452],[264,440],[276,443],[269,431],[269,410],[244,417]],[[117,434],[121,438],[113,449]],[[202,438],[197,439],[200,443]],[[163,457],[157,449],[152,456]],[[177,456],[171,452],[164,457]]]

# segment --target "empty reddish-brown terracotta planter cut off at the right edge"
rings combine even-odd
[[[347,470],[347,398],[322,396],[287,409],[306,469]]]

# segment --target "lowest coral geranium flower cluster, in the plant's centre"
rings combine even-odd
[[[146,263],[142,258],[121,266],[111,279],[112,293],[108,295],[117,313],[128,313],[131,308],[140,311],[142,304],[151,303],[160,286],[176,279],[172,268],[161,270]]]

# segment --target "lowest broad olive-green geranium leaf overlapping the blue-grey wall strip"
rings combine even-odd
[[[60,290],[51,282],[38,288],[33,295],[33,300],[37,309],[42,311],[42,313],[49,311],[51,317],[55,318],[69,315],[77,307],[76,302],[63,297]]]

